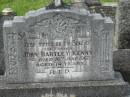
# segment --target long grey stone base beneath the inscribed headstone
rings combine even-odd
[[[116,80],[2,85],[0,97],[126,97],[130,95],[129,84]]]

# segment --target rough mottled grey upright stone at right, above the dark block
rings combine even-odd
[[[130,49],[130,0],[120,0],[116,33],[119,49]]]

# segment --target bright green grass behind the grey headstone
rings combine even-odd
[[[64,0],[70,3],[71,0]],[[101,2],[112,2],[117,0],[101,0]],[[52,0],[0,0],[0,11],[6,7],[12,8],[17,15],[24,15],[29,10],[35,10],[50,4]]]

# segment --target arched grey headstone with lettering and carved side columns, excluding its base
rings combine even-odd
[[[4,24],[7,76],[20,81],[27,70],[32,82],[113,79],[112,29],[110,18],[86,10],[15,17]]]

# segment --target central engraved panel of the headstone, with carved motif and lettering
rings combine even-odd
[[[76,78],[87,71],[91,60],[91,34],[87,23],[54,15],[32,26],[24,52],[36,79]]]

